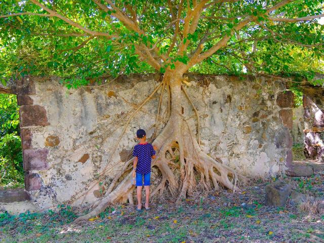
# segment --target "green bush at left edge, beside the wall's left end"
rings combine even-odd
[[[21,140],[17,132],[0,139],[0,185],[19,187],[24,183]]]

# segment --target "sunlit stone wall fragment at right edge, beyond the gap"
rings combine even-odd
[[[303,93],[304,153],[307,158],[324,162],[324,88],[305,87]]]

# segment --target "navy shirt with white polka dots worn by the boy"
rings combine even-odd
[[[134,147],[133,156],[138,157],[136,173],[147,174],[151,172],[151,156],[155,154],[152,144],[137,144]]]

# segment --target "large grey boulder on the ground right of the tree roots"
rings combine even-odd
[[[268,206],[283,207],[292,192],[292,187],[284,181],[275,181],[265,186],[265,203]]]

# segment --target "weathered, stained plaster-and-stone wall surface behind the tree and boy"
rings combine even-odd
[[[160,79],[157,74],[132,75],[78,90],[67,90],[58,78],[23,79],[20,87],[24,88],[17,93],[25,188],[32,207],[46,209],[72,202],[79,206],[97,200],[130,156],[136,130],[145,129],[147,137],[153,134],[159,94],[134,117],[111,155],[130,112]],[[293,95],[284,92],[282,80],[254,79],[190,74],[191,86],[186,89],[200,115],[202,149],[245,175],[273,176],[292,163]],[[185,97],[182,106],[195,128]],[[161,112],[164,121],[166,109],[167,92]],[[91,188],[89,183],[104,169],[103,188]],[[85,188],[89,189],[86,196],[71,201]],[[10,204],[0,204],[0,209],[9,208]]]

